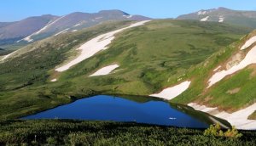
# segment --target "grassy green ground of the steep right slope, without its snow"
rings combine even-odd
[[[172,101],[182,104],[197,102],[227,111],[239,110],[253,104],[256,99],[254,65],[249,65],[247,68],[237,71],[234,75],[225,77],[209,89],[206,87],[207,81],[213,74],[212,70],[218,65],[225,66],[227,60],[232,58],[236,53],[246,54],[250,48],[243,51],[239,51],[239,49],[248,38],[255,34],[254,31],[240,41],[213,54],[211,58],[201,63],[201,65],[190,69],[188,78],[193,79],[192,85],[189,87],[189,90]]]

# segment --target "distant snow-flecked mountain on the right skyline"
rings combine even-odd
[[[228,8],[213,8],[200,10],[192,14],[183,14],[177,17],[177,20],[201,20],[224,22],[232,25],[243,25],[256,28],[255,11],[237,11]]]

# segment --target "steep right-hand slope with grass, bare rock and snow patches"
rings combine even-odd
[[[172,102],[207,111],[240,129],[255,129],[255,38],[253,31],[190,69],[185,79],[190,87]]]

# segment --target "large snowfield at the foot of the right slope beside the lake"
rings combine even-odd
[[[195,110],[201,110],[203,112],[207,112],[208,114],[214,115],[218,118],[229,121],[230,124],[232,126],[236,126],[237,129],[256,130],[256,120],[248,120],[248,116],[252,115],[253,112],[256,110],[256,103],[252,104],[251,106],[248,106],[245,109],[238,110],[231,114],[225,111],[218,112],[217,108],[209,108],[205,105],[199,105],[195,103],[190,103],[188,105],[194,108]]]

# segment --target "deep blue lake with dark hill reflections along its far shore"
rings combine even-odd
[[[79,99],[21,119],[74,119],[87,121],[136,121],[165,126],[206,128],[209,115],[178,104],[145,97],[97,95]]]

